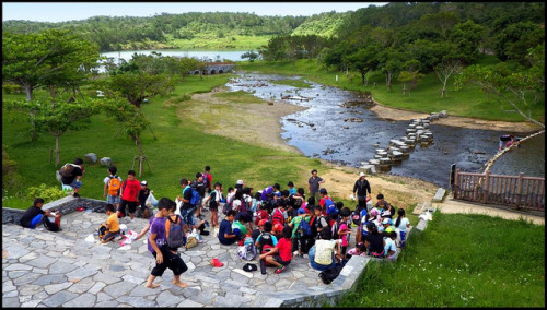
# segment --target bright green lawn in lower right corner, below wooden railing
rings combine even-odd
[[[545,225],[433,215],[393,263],[370,262],[337,307],[545,307]]]

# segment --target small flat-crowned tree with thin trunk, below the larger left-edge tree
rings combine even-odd
[[[28,118],[34,119],[36,129],[49,132],[55,136],[56,166],[60,164],[60,136],[68,130],[77,131],[86,128],[90,117],[98,111],[96,100],[88,99],[67,103],[60,97],[48,100],[9,100],[7,107],[25,112],[34,111],[33,116],[28,114]]]

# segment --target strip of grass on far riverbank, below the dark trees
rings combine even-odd
[[[492,59],[485,58],[481,63],[491,62]],[[417,90],[412,90],[410,95],[403,95],[403,85],[395,79],[393,81],[392,92],[387,92],[385,81],[383,78],[376,81],[376,86],[373,86],[373,81],[369,86],[361,84],[360,75],[346,74],[336,71],[321,70],[316,60],[299,60],[295,67],[290,62],[271,62],[255,61],[253,63],[245,61],[237,63],[238,70],[245,71],[260,71],[264,73],[279,73],[279,74],[299,74],[303,79],[309,79],[314,82],[337,86],[340,88],[372,93],[373,98],[380,104],[393,107],[407,109],[418,112],[439,112],[446,110],[449,115],[479,118],[486,120],[500,120],[500,121],[523,121],[522,117],[517,114],[508,114],[500,109],[500,104],[489,99],[486,94],[477,86],[466,86],[464,90],[456,92],[454,90],[453,79],[447,84],[447,97],[440,96],[441,83],[437,75],[428,74],[418,84]],[[338,82],[336,82],[338,75]],[[504,109],[510,109],[504,106]],[[532,109],[532,115],[535,119],[543,121],[545,116],[544,103],[535,105]]]

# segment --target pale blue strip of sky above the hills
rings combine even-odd
[[[387,2],[2,2],[2,21],[65,22],[91,16],[153,16],[163,12],[247,12],[257,15],[311,16],[381,7]]]

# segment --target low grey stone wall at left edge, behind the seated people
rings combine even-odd
[[[78,207],[83,206],[93,211],[104,208],[106,201],[88,199],[88,198],[73,198],[71,195],[56,200],[54,202],[44,204],[43,210],[56,208],[60,210],[62,215],[74,212]],[[2,207],[2,224],[13,223],[19,225],[21,217],[25,210]]]

